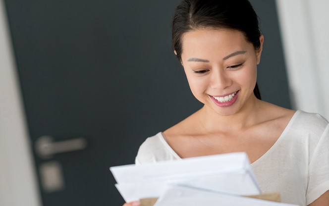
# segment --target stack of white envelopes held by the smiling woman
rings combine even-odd
[[[155,206],[292,206],[241,197],[261,193],[245,153],[115,166],[110,170],[126,202],[157,198]]]

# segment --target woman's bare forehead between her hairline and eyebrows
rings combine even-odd
[[[182,57],[226,55],[239,50],[253,49],[244,34],[230,29],[197,29],[186,32],[182,37]]]

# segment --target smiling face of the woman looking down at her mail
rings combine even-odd
[[[263,36],[260,38],[263,44]],[[182,65],[193,95],[221,115],[231,115],[252,104],[257,64],[255,51],[242,32],[198,29],[182,38]]]

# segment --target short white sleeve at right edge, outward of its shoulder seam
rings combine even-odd
[[[310,159],[306,205],[313,203],[327,190],[329,190],[329,125]]]

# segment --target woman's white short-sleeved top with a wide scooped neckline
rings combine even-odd
[[[140,146],[136,164],[181,159],[160,132]],[[297,110],[272,148],[251,164],[262,193],[307,206],[329,190],[329,123]]]

